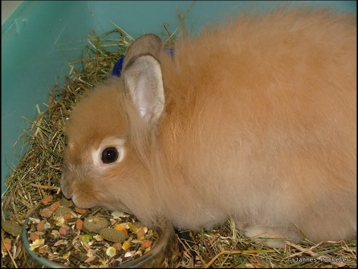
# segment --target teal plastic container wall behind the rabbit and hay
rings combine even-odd
[[[134,38],[179,25],[176,6],[184,14],[192,1],[23,1],[1,26],[1,193],[9,166],[17,164],[18,136],[34,119],[36,104],[45,110],[47,84],[63,84],[68,62],[81,58],[87,34],[113,30],[112,20]],[[235,15],[241,9],[267,10],[288,1],[196,1],[186,18],[197,33],[205,23]],[[329,5],[356,13],[357,1],[293,1]],[[194,20],[195,18],[195,20]],[[26,151],[23,149],[22,153]],[[14,153],[17,158],[14,158]]]

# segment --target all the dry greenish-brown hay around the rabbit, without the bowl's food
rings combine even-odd
[[[167,24],[162,24],[166,48],[173,48],[175,37],[186,34],[185,30],[183,31],[183,21],[189,10],[181,16],[177,9],[180,24],[173,33],[168,31]],[[22,225],[47,195],[60,192],[61,161],[65,147],[63,126],[69,118],[69,111],[78,99],[87,95],[93,85],[108,78],[114,64],[134,41],[133,37],[112,23],[116,27],[113,31],[99,35],[91,31],[87,38],[85,55],[80,60],[68,63],[70,73],[66,76],[67,83],[48,87],[50,98],[48,103],[45,103],[47,109],[40,111],[37,105],[38,116],[34,120],[23,117],[31,126],[21,134],[17,142],[23,138],[24,145],[27,145],[29,150],[19,160],[17,167],[12,168],[11,175],[6,180],[7,189],[1,197],[3,219],[6,216],[6,219]],[[83,71],[78,71],[75,65],[81,65]],[[236,230],[230,220],[219,229],[202,230],[198,234],[188,231],[188,234],[191,239],[175,235],[172,252],[165,259],[167,268],[357,267],[357,240],[317,245],[310,242],[300,245],[287,242],[283,250],[269,249],[246,238]],[[1,242],[5,245],[3,231]],[[8,255],[3,254],[6,256],[1,259],[2,268],[18,267],[17,263],[22,256],[18,251],[21,248],[21,240],[13,237],[12,245],[17,247],[17,251],[12,254],[5,248],[3,253],[7,252]],[[307,261],[309,258],[311,260]],[[325,262],[322,262],[321,258],[325,258]],[[335,260],[332,261],[332,258]]]

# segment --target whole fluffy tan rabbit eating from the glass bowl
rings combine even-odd
[[[78,207],[150,227],[232,218],[250,237],[355,238],[356,17],[243,14],[182,38],[173,58],[143,35],[66,134],[61,187]]]

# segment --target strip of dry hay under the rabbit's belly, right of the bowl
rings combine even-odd
[[[227,220],[219,229],[202,231],[197,235],[189,232],[191,240],[176,236],[173,253],[167,259],[166,267],[357,268],[357,240],[328,242],[328,245],[324,245],[324,242],[296,245],[286,241],[285,248],[277,250],[255,244],[233,224]]]

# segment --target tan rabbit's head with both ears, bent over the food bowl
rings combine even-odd
[[[97,85],[73,108],[61,189],[76,206],[138,216],[155,209],[146,153],[164,110],[161,51],[159,37],[141,36],[127,52],[122,77]]]

